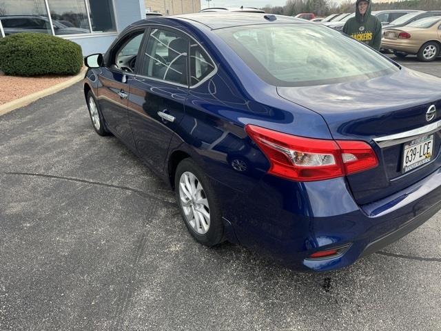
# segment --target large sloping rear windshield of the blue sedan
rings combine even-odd
[[[215,32],[274,86],[338,83],[399,70],[369,46],[318,24],[238,26]]]

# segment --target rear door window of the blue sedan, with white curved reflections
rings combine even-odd
[[[153,29],[144,54],[145,77],[187,85],[188,38],[169,30]]]

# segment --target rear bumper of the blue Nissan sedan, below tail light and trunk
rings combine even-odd
[[[235,203],[225,217],[240,243],[292,269],[327,271],[382,249],[438,212],[441,169],[369,205],[356,205],[343,178],[296,183],[265,176],[252,192],[230,197]],[[337,257],[308,259],[342,245],[350,247]]]

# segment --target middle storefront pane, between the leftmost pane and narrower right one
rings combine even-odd
[[[48,0],[55,34],[90,33],[84,0]]]

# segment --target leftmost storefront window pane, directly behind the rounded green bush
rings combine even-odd
[[[0,21],[6,35],[19,32],[52,34],[44,0],[1,0]]]

